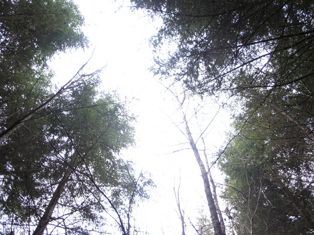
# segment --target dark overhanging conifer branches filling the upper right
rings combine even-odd
[[[154,73],[182,80],[198,94],[270,89],[313,80],[311,0],[132,3],[162,18],[164,25],[152,39],[156,50],[174,47],[156,56]],[[248,79],[239,79],[243,75]]]

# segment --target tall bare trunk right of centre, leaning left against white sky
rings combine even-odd
[[[203,161],[200,158],[199,150],[198,150],[198,148],[194,142],[194,139],[192,137],[192,134],[191,134],[191,131],[189,129],[188,122],[185,118],[185,115],[183,115],[183,121],[185,123],[186,133],[188,135],[190,145],[191,145],[192,150],[194,152],[194,156],[195,156],[195,158],[199,164],[199,167],[200,167],[200,172],[201,172],[201,176],[202,176],[203,183],[204,183],[206,199],[207,199],[207,203],[208,203],[208,207],[209,207],[209,211],[210,211],[210,218],[211,218],[211,222],[212,222],[213,227],[214,227],[214,233],[215,233],[215,235],[224,235],[223,231],[221,229],[221,224],[220,224],[220,221],[218,218],[215,202],[214,202],[213,195],[212,195],[212,192],[210,189],[210,183],[208,180],[207,171],[206,171],[206,168],[204,166]]]

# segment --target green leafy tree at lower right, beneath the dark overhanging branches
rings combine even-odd
[[[312,137],[271,107],[249,104],[220,160],[230,216],[243,234],[311,234]]]

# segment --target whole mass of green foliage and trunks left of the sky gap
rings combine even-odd
[[[55,87],[47,61],[87,46],[71,0],[0,1],[0,234],[131,233],[151,185],[119,157],[133,115],[84,66]]]

